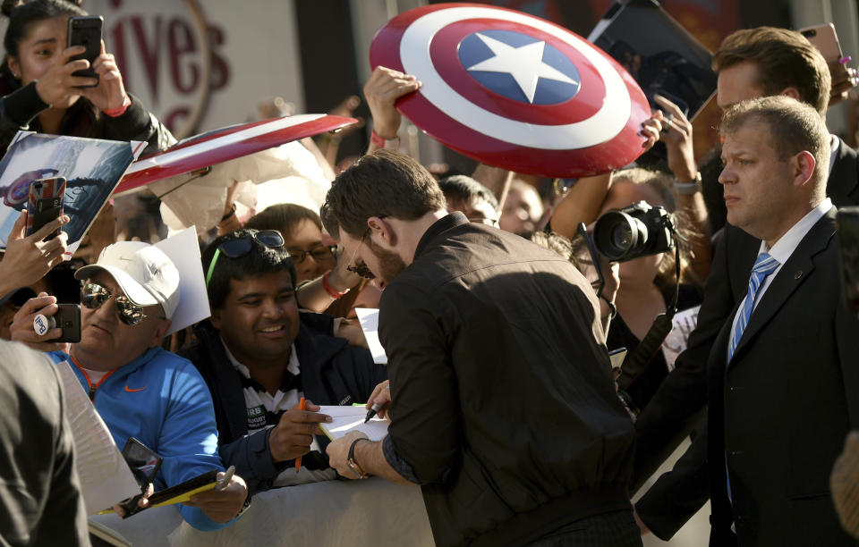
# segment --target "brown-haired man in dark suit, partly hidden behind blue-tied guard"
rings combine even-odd
[[[737,30],[719,46],[713,56],[713,69],[719,73],[716,100],[722,109],[750,98],[784,95],[812,105],[821,116],[826,114],[832,88],[829,67],[821,53],[795,30]],[[829,150],[831,162],[828,169],[827,165],[823,169],[824,179],[829,177],[827,195],[836,206],[859,205],[859,160],[855,150],[834,135],[829,135]],[[720,189],[718,193],[720,197]],[[730,227],[725,235],[731,235]],[[698,327],[685,352],[677,358],[675,370],[642,409],[635,424],[634,489],[689,433],[706,402],[705,366],[710,348],[734,305],[725,296],[729,294],[725,259],[733,255],[720,245],[713,257]]]

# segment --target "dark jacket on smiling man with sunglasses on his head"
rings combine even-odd
[[[331,336],[333,318],[300,314],[301,328],[295,350],[301,366],[304,397],[318,405],[351,405],[366,402],[373,389],[387,380],[387,369],[373,363],[370,351],[350,346],[344,338]],[[225,466],[235,466],[248,488],[262,492],[271,488],[277,475],[292,463],[275,463],[268,449],[271,427],[248,435],[247,405],[241,374],[226,357],[217,330],[208,321],[196,328],[198,342],[179,354],[197,367],[212,393],[217,419],[217,442]],[[326,437],[318,437],[324,454]],[[309,468],[327,466],[327,459],[308,458]],[[314,463],[316,465],[314,465]]]

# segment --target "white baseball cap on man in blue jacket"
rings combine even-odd
[[[160,305],[167,319],[179,307],[179,270],[164,252],[142,241],[119,241],[101,251],[96,264],[83,266],[75,279],[87,279],[98,270],[110,273],[133,303]]]

